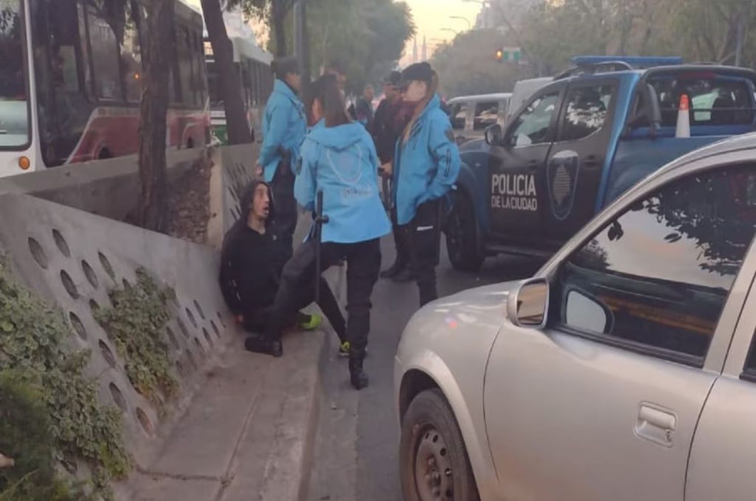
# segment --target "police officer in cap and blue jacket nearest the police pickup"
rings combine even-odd
[[[417,63],[407,66],[401,78],[402,99],[417,105],[397,142],[393,195],[424,306],[438,298],[442,214],[460,173],[460,152],[437,94],[438,74],[428,63]]]

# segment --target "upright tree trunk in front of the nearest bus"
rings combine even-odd
[[[172,36],[175,0],[152,0],[148,9],[139,124],[138,208],[141,226],[160,232],[165,228],[167,208],[166,116],[170,61],[175,54]]]

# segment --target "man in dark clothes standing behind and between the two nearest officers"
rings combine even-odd
[[[402,106],[401,92],[399,84],[401,82],[400,72],[391,72],[388,78],[383,81],[383,92],[386,97],[381,100],[376,109],[375,119],[373,121],[373,141],[376,143],[376,152],[381,163],[381,173],[390,180],[393,172],[394,153],[396,141],[401,136],[407,122],[410,121],[413,106]],[[384,183],[384,189],[386,189]],[[390,192],[390,190],[389,190]],[[396,210],[392,207],[391,221],[394,232],[394,244],[396,247],[396,260],[392,266],[381,272],[381,277],[392,278],[395,281],[411,281],[412,273],[409,269],[409,254],[401,229],[396,224]]]

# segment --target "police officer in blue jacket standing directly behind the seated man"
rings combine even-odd
[[[292,254],[296,229],[293,165],[305,138],[305,106],[299,100],[302,78],[296,57],[283,57],[272,64],[276,81],[262,118],[263,142],[258,159],[259,171],[271,186],[277,214],[274,234],[280,246],[281,266]]]

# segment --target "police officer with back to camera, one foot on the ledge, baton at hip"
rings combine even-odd
[[[346,115],[336,79],[325,75],[311,85],[311,113],[316,125],[302,144],[296,200],[312,211],[318,191],[329,220],[321,233],[321,266],[346,261],[349,373],[352,386],[367,386],[363,370],[370,331],[370,296],[380,273],[380,238],[391,232],[378,190],[378,155],[370,134]],[[280,355],[280,332],[296,312],[297,297],[314,286],[317,243],[308,238],[283,268],[274,314],[266,339],[253,351]]]

